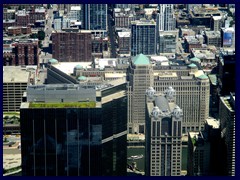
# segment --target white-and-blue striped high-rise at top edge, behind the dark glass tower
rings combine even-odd
[[[176,28],[173,4],[159,4],[157,16],[158,31],[171,31]]]

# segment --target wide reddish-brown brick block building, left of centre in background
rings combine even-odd
[[[92,61],[91,31],[52,33],[53,58],[60,62]]]

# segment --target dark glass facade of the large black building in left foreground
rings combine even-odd
[[[126,107],[123,96],[101,108],[22,108],[22,175],[126,175]]]

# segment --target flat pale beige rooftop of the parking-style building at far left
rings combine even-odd
[[[3,83],[28,83],[29,76],[20,66],[3,66]]]

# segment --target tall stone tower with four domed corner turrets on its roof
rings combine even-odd
[[[169,87],[157,95],[150,87],[146,98],[146,164],[149,176],[180,176],[183,111]]]

